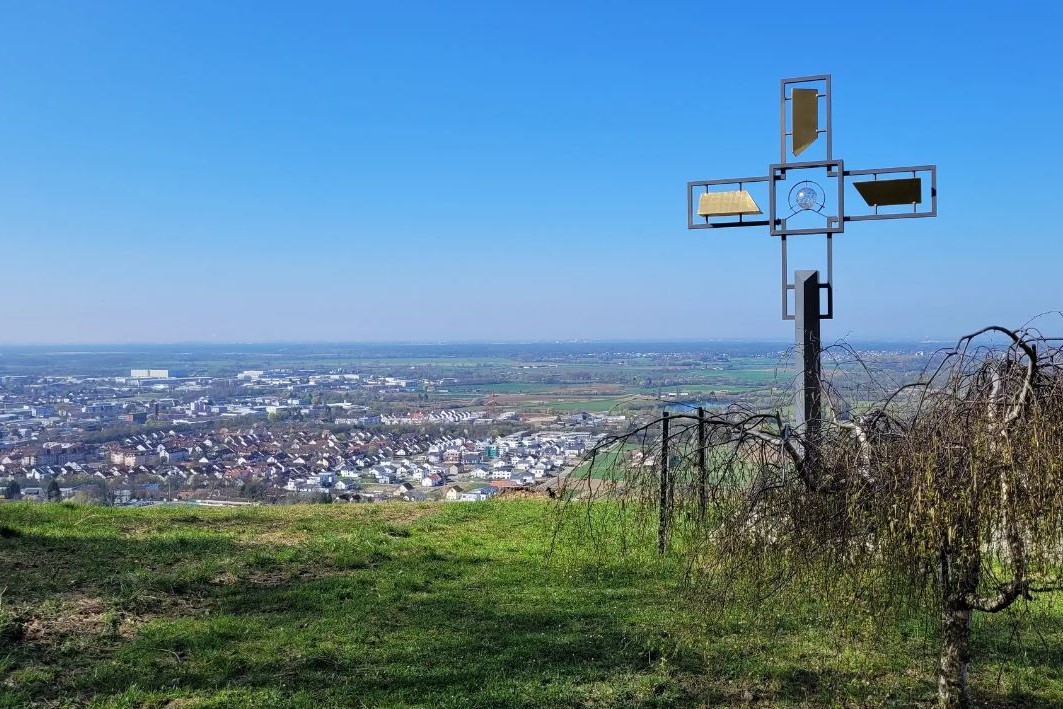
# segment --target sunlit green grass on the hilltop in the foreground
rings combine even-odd
[[[550,553],[547,503],[0,505],[0,706],[918,706],[931,624],[703,625],[678,564]],[[586,510],[574,509],[573,519]],[[1056,617],[1059,620],[1059,617]],[[1025,624],[1025,625],[1024,625]],[[1059,623],[980,618],[986,706],[1061,706]]]

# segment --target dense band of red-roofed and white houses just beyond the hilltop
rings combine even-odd
[[[167,493],[205,486],[240,490],[257,482],[297,495],[390,490],[409,496],[409,489],[434,493],[456,483],[469,488],[536,485],[575,465],[594,440],[571,432],[475,439],[265,426],[156,431],[100,446],[46,443],[12,450],[0,458],[0,480],[92,477]]]

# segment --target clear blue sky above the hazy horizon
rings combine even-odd
[[[894,5],[2,2],[0,343],[788,338],[685,184],[821,72],[836,156],[940,193],[838,238],[828,338],[1063,308],[1063,11]]]

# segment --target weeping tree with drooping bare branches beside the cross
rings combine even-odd
[[[989,335],[1007,348],[976,347]],[[660,551],[687,555],[707,584],[727,580],[718,602],[746,578],[757,598],[800,587],[829,602],[856,589],[873,606],[933,612],[939,705],[968,707],[973,613],[1063,590],[1058,341],[986,327],[857,416],[837,412],[828,386],[826,420],[811,431],[730,410],[670,416],[661,438],[662,417],[600,444],[587,474],[609,460],[612,489],[623,483],[625,500],[656,514]],[[631,444],[638,455],[610,457]],[[641,465],[647,456],[655,466]]]

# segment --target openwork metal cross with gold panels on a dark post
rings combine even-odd
[[[851,221],[935,217],[938,167],[846,170],[832,153],[830,74],[779,82],[779,162],[767,166],[766,175],[687,183],[687,226],[767,226],[772,236],[779,237],[782,319],[796,321],[797,356],[803,370],[797,382],[797,425],[805,425],[812,434],[819,428],[822,396],[820,321],[834,317],[832,238]],[[789,153],[796,158],[810,148],[815,148],[817,154],[807,155],[802,162],[787,161]],[[847,193],[849,204],[855,203],[854,197],[864,203],[854,214],[845,210]],[[757,197],[766,200],[766,219]],[[795,271],[793,282],[789,280],[787,237],[806,235],[826,237],[824,283],[820,283],[819,271]],[[823,291],[825,309],[821,305]]]

